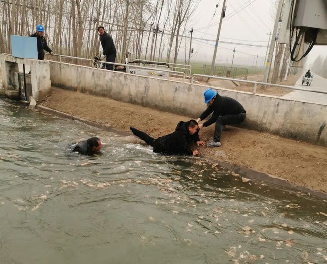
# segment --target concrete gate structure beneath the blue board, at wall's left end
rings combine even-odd
[[[51,90],[50,63],[36,59],[21,59],[11,55],[0,54],[3,88],[9,98],[19,99],[18,95],[18,64],[29,65],[31,68],[32,94],[36,100],[45,97]],[[28,72],[26,72],[28,73]]]

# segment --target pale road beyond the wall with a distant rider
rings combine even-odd
[[[327,92],[327,79],[322,78],[317,74],[314,74],[311,86],[306,86],[306,85],[302,86],[303,75],[295,83],[295,87]],[[287,95],[283,96],[282,98],[327,105],[327,94],[321,94],[321,93],[313,93],[313,92],[294,90],[294,91],[288,93]]]

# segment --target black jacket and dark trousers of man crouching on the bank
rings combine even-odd
[[[217,94],[216,99],[211,106],[200,115],[200,119],[204,120],[213,112],[211,118],[203,123],[204,127],[215,125],[215,133],[213,140],[220,142],[220,135],[224,125],[239,124],[246,118],[246,111],[243,106],[233,98],[220,96]]]

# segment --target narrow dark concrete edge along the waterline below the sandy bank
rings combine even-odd
[[[79,118],[79,117],[76,117],[76,116],[73,116],[73,115],[70,115],[70,114],[67,114],[67,113],[64,113],[64,112],[49,108],[49,107],[45,107],[45,106],[42,106],[42,105],[37,105],[36,108],[40,109],[40,110],[42,110],[42,111],[44,111],[46,113],[53,114],[55,116],[68,118],[68,119],[71,119],[71,120],[76,120],[76,121],[82,122],[84,124],[87,124],[89,126],[96,127],[96,128],[99,128],[99,129],[103,129],[103,130],[106,130],[106,131],[110,131],[110,132],[113,132],[113,133],[116,133],[116,134],[119,134],[119,135],[122,135],[122,136],[130,136],[130,133],[128,133],[128,132],[124,132],[124,131],[121,131],[121,130],[118,130],[118,129],[109,128],[109,127],[106,127],[106,126],[103,126],[103,125],[99,125],[99,124],[96,124],[96,123],[94,123],[92,121],[88,121],[88,120],[85,120],[83,118]],[[306,194],[309,194],[310,196],[313,195],[313,196],[316,196],[318,198],[327,200],[327,193],[312,190],[312,189],[309,189],[309,188],[301,186],[301,185],[295,185],[295,184],[292,184],[292,183],[290,183],[290,182],[288,182],[288,181],[286,181],[284,179],[275,177],[273,175],[262,173],[262,172],[259,172],[259,171],[256,171],[254,169],[250,169],[250,168],[247,168],[247,167],[233,165],[233,164],[230,164],[228,162],[220,161],[220,160],[217,160],[217,159],[212,159],[212,158],[209,159],[209,158],[204,157],[204,158],[201,158],[201,160],[208,161],[210,163],[216,163],[219,166],[222,166],[222,167],[224,167],[224,168],[226,168],[226,169],[228,169],[230,171],[241,174],[243,177],[251,179],[255,183],[260,184],[261,182],[265,182],[265,183],[269,183],[269,184],[272,184],[272,185],[275,185],[275,186],[286,188],[285,191],[306,193]]]

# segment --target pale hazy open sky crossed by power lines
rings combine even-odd
[[[274,18],[272,3],[274,0],[227,0],[226,16],[223,19],[219,41],[230,41],[254,45],[268,43],[268,33],[273,31]],[[216,9],[216,5],[219,7]],[[215,40],[218,32],[219,19],[223,0],[201,0],[196,15],[189,24],[193,26],[192,47],[194,54],[191,60],[211,61],[214,51],[213,41],[196,40],[195,38]],[[243,9],[241,9],[244,7]],[[235,13],[239,11],[238,13]],[[215,16],[213,14],[215,13]],[[219,43],[216,63],[231,63],[233,48],[236,46],[234,64],[255,63],[257,54],[258,65],[264,63],[266,47],[241,46],[237,44]],[[242,52],[242,53],[241,53]],[[247,53],[247,54],[244,54]],[[248,55],[250,54],[250,55]],[[307,56],[308,62],[319,54],[327,54],[327,46],[315,46]]]

